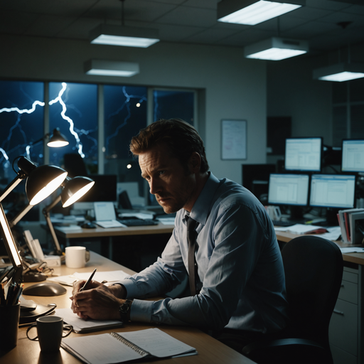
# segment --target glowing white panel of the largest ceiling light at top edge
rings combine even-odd
[[[223,16],[222,18],[219,18],[218,21],[255,26],[263,21],[276,18],[277,16],[281,16],[282,14],[286,14],[289,11],[293,11],[300,7],[301,5],[299,4],[260,0],[255,4],[237,10],[232,14]]]

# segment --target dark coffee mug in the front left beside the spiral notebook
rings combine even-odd
[[[33,327],[37,328],[38,335],[35,338],[28,336],[29,331]],[[68,330],[68,333],[63,336],[63,330]],[[41,350],[44,352],[52,352],[60,349],[60,342],[62,338],[70,335],[73,327],[65,325],[63,328],[63,319],[59,316],[41,316],[38,317],[37,322],[28,327],[26,336],[29,340],[39,341]]]

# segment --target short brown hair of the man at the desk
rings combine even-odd
[[[208,171],[203,140],[196,129],[182,119],[160,119],[141,129],[132,138],[130,151],[137,156],[159,145],[166,145],[184,168],[187,168],[188,159],[196,151],[201,156],[200,172]]]

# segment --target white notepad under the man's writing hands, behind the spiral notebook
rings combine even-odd
[[[55,316],[63,317],[63,321],[72,325],[76,332],[82,329],[85,331],[97,331],[103,328],[122,326],[122,321],[119,320],[84,320],[73,314],[71,309],[55,309]]]

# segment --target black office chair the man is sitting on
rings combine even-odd
[[[328,326],[343,277],[343,256],[330,240],[300,236],[282,250],[289,324],[242,354],[255,362],[332,364]]]

